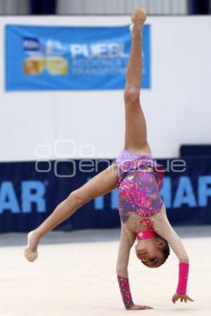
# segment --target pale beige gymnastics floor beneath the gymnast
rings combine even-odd
[[[4,234],[0,315],[211,315],[211,226],[176,230],[191,261],[188,295],[194,303],[171,302],[178,272],[174,254],[162,267],[149,269],[132,249],[129,279],[134,302],[155,309],[124,310],[115,275],[120,230],[52,232],[43,239],[34,263],[23,257],[25,234]]]

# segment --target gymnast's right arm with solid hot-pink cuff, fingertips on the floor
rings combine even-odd
[[[184,298],[185,302],[187,299],[189,301],[193,301],[186,295],[189,268],[188,255],[186,254],[186,250],[184,249],[181,239],[175,232],[174,228],[172,228],[172,225],[170,225],[164,204],[160,213],[155,214],[152,219],[153,229],[155,232],[169,242],[174,254],[176,254],[177,258],[179,258],[179,282],[177,285],[177,292],[174,294],[172,301],[175,303],[178,298]]]

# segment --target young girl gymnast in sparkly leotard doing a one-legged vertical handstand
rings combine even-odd
[[[167,220],[165,205],[160,197],[163,169],[151,155],[146,138],[146,121],[139,101],[142,77],[142,29],[146,13],[136,8],[132,14],[132,48],[127,67],[125,104],[124,150],[114,164],[89,180],[70,195],[44,220],[37,229],[28,234],[25,257],[37,258],[39,239],[91,199],[106,195],[118,187],[118,206],[121,220],[121,237],[117,258],[117,280],[123,303],[128,310],[151,307],[135,305],[129,289],[127,266],[129,252],[135,239],[136,256],[149,268],[158,268],[170,254],[169,244],[179,258],[179,282],[173,303],[177,300],[193,301],[186,295],[188,279],[188,256],[181,240]]]

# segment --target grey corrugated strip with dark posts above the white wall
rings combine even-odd
[[[211,0],[0,0],[0,15],[128,15],[143,6],[149,15],[186,15],[211,13]],[[34,12],[34,5],[38,11]],[[39,12],[40,11],[40,12]]]

